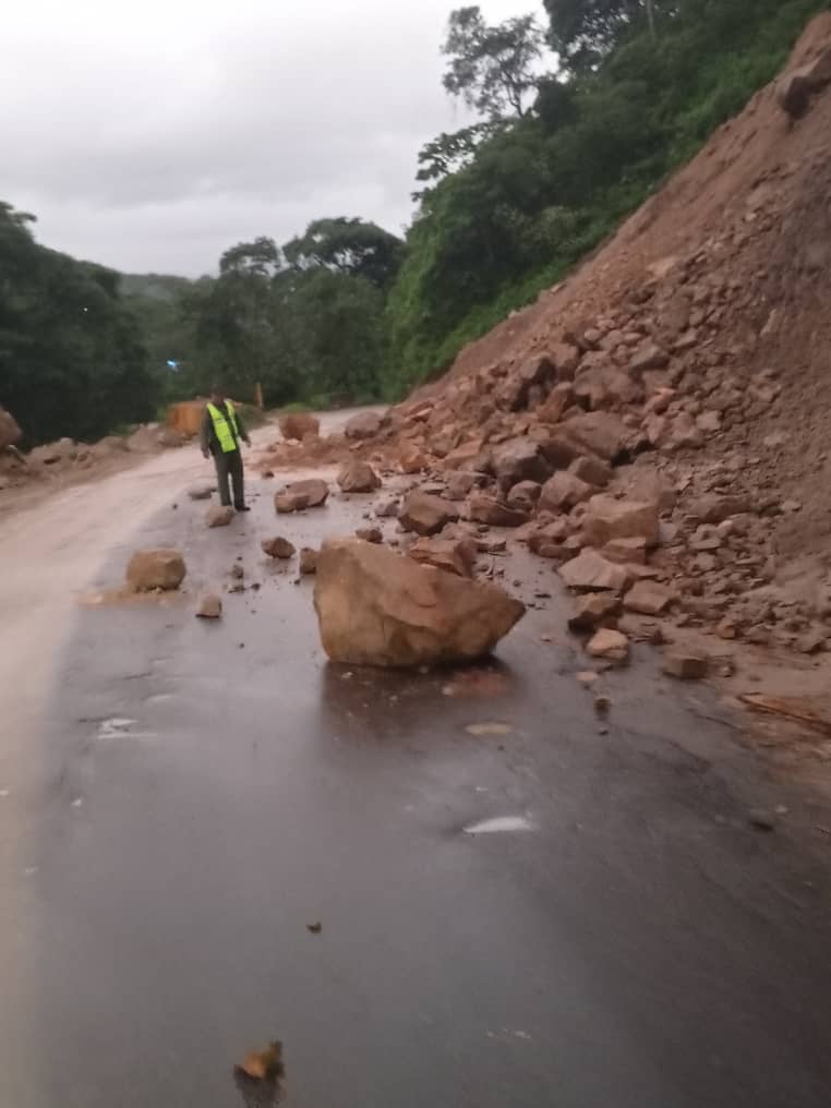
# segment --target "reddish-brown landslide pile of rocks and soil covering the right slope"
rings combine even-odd
[[[830,304],[828,13],[603,250],[351,451],[517,529],[584,630],[829,649]]]

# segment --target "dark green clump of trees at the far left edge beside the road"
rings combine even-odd
[[[29,443],[148,418],[157,382],[117,274],[40,246],[31,222],[0,203],[0,403]]]

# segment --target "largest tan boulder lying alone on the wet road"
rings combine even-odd
[[[389,667],[482,657],[525,612],[496,585],[348,538],[320,551],[315,609],[332,661]]]

